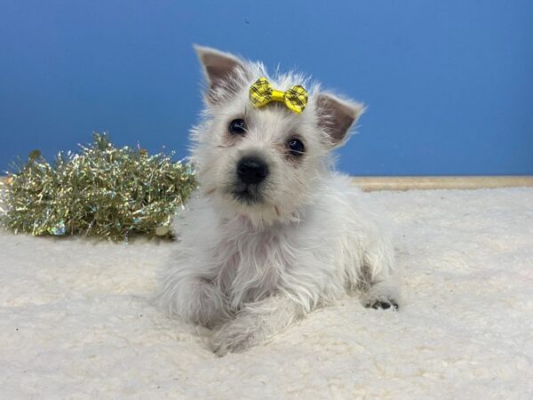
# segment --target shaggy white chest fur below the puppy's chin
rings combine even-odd
[[[272,295],[282,274],[290,267],[290,242],[279,230],[233,232],[218,246],[217,284],[227,295],[230,306],[259,301]],[[220,257],[221,254],[224,254]]]

